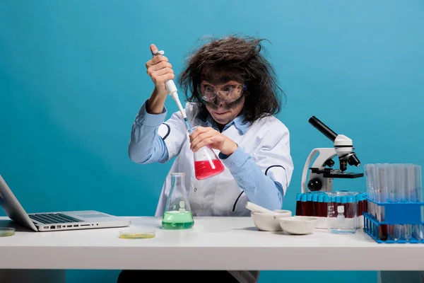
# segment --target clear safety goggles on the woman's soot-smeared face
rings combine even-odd
[[[217,98],[225,103],[232,103],[246,91],[247,87],[241,84],[226,84],[225,86],[212,86],[208,83],[201,83],[198,91],[201,99],[208,103],[216,103]]]

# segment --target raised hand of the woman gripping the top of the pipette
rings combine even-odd
[[[151,52],[158,50],[156,45],[151,45]],[[166,98],[167,89],[165,81],[174,79],[174,71],[172,65],[168,62],[167,57],[159,54],[150,59],[146,63],[147,74],[151,77],[153,83],[155,83],[155,91],[153,93],[161,98]]]

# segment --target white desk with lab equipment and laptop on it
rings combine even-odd
[[[127,228],[17,231],[0,238],[0,269],[424,270],[424,245],[378,244],[362,230],[293,236],[258,231],[249,217],[197,217],[193,229],[164,231],[160,221],[140,217]],[[156,236],[119,238],[129,228],[155,229]]]

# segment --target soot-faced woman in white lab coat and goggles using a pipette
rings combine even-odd
[[[189,101],[187,118],[192,127],[198,126],[190,137],[180,112],[165,121],[165,81],[175,77],[172,65],[163,55],[146,63],[155,88],[136,115],[129,158],[147,164],[176,157],[170,173],[185,173],[193,216],[249,216],[247,201],[271,210],[282,207],[293,172],[290,137],[287,127],[273,116],[280,110],[281,89],[273,67],[261,54],[261,41],[224,37],[208,42],[189,57],[178,82]],[[157,48],[151,45],[154,50]],[[193,151],[206,145],[219,151],[225,171],[197,180]],[[162,216],[165,209],[170,173],[156,216]],[[258,277],[258,272],[231,273],[238,282],[256,282]],[[215,274],[206,276],[228,276]]]

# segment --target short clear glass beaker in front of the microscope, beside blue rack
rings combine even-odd
[[[327,192],[327,227],[330,233],[355,233],[357,229],[357,192]]]

